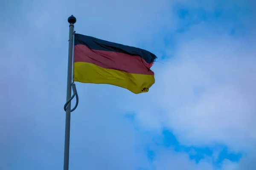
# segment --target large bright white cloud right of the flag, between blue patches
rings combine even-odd
[[[183,42],[175,58],[155,68],[158,83],[151,95],[165,110],[159,122],[166,122],[184,144],[250,148],[256,141],[255,54],[230,37]],[[148,110],[161,116],[158,108]],[[143,121],[151,121],[141,114]]]

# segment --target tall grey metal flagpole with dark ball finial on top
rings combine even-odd
[[[67,101],[71,97],[71,84],[72,84],[72,67],[73,67],[73,34],[74,24],[76,17],[71,15],[67,19],[69,25],[69,41],[68,41],[68,64],[67,64]],[[70,113],[71,101],[67,105],[66,110],[66,125],[65,125],[65,146],[64,146],[64,170],[69,168],[69,147],[70,147]]]

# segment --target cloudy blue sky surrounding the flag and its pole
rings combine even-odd
[[[76,83],[70,170],[254,169],[253,1],[16,0],[0,8],[1,170],[63,168],[71,14],[77,33],[158,60],[145,94]]]

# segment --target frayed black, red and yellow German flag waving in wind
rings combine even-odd
[[[150,68],[156,58],[140,48],[75,34],[74,81],[148,92],[155,82]]]

